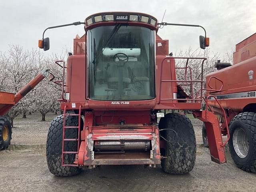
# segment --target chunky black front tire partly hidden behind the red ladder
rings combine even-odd
[[[69,116],[65,119],[66,125],[78,126],[78,117]],[[81,130],[83,122],[81,119]],[[62,159],[62,130],[63,130],[63,115],[57,116],[52,120],[48,130],[46,141],[46,160],[47,165],[52,174],[55,176],[72,176],[81,172],[78,167],[61,166]],[[65,138],[77,138],[77,128],[65,129]],[[77,141],[66,141],[64,151],[77,151]],[[73,164],[76,154],[64,154],[64,163]]]

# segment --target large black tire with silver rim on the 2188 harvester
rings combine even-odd
[[[229,151],[238,168],[256,173],[256,113],[236,115],[229,126]]]

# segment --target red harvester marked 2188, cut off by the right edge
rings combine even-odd
[[[256,33],[236,45],[233,59],[234,65],[215,63],[218,71],[206,76],[206,97],[212,112],[220,115],[222,134],[230,138],[228,146],[234,162],[242,170],[256,173]],[[216,78],[210,81],[213,77]],[[225,109],[226,121],[218,103],[209,95],[214,95]],[[204,126],[205,146],[207,131]]]

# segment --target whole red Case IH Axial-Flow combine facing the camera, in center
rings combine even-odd
[[[202,26],[158,23],[137,12],[103,12],[84,23],[47,29],[79,24],[84,24],[85,34],[74,39],[67,64],[56,61],[63,69],[62,81],[56,83],[62,86],[64,114],[52,121],[48,132],[46,157],[52,174],[70,176],[81,168],[136,164],[161,164],[171,174],[190,172],[196,161],[193,126],[186,116],[164,116],[164,109],[193,110],[207,124],[211,159],[226,162],[218,118],[201,109],[206,58],[166,56],[168,40],[157,35],[159,26]],[[209,46],[204,32],[201,48]],[[38,45],[48,50],[44,33]],[[176,68],[175,60],[185,60],[186,66]],[[191,72],[191,60],[201,60],[201,79],[195,80],[192,73],[189,80],[176,79],[176,70],[184,70],[185,77]],[[196,83],[201,85],[197,94]],[[190,87],[190,94],[184,86]]]

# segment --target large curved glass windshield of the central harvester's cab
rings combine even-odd
[[[154,30],[140,26],[117,24],[89,30],[90,98],[154,98],[154,42]]]

